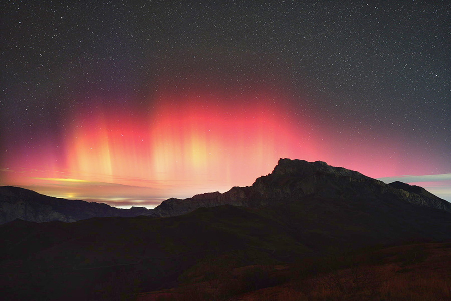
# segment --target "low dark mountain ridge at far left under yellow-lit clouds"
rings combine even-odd
[[[142,207],[119,209],[107,204],[49,197],[19,187],[0,187],[0,224],[18,218],[32,222],[75,222],[91,217],[151,214],[152,210]]]

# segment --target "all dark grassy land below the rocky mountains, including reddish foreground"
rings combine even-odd
[[[450,217],[312,197],[170,218],[17,220],[0,225],[0,286],[11,300],[449,299],[451,247],[431,242],[451,240]],[[402,246],[412,239],[422,244]]]

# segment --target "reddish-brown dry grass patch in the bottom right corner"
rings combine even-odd
[[[234,301],[451,300],[449,246],[403,246],[384,252],[388,255],[377,264],[351,264],[329,272],[320,268],[313,277],[301,273],[289,284],[242,295]]]

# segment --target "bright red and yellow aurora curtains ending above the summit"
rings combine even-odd
[[[286,108],[255,98],[243,97],[234,106],[205,97],[165,97],[148,114],[78,110],[64,145],[44,147],[48,152],[41,162],[47,162],[48,170],[30,176],[227,190],[271,172],[280,157],[313,160],[315,143],[303,137]],[[64,152],[63,159],[56,160],[52,152]]]

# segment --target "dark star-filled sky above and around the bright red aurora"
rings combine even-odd
[[[220,111],[272,102],[289,128],[309,123],[330,139],[331,153],[339,141],[382,143],[401,166],[386,176],[451,172],[448,1],[8,1],[0,11],[0,168],[33,168],[34,152],[73,140],[80,112],[85,123],[98,110],[142,123],[197,93]],[[68,168],[65,156],[55,150],[52,168]]]

